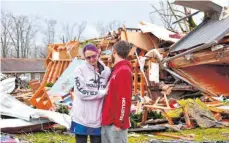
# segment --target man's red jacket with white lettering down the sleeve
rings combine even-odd
[[[129,128],[131,96],[132,67],[129,61],[122,60],[115,64],[110,75],[108,94],[103,103],[102,125]]]

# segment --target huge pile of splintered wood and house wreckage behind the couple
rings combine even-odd
[[[132,45],[128,56],[133,67],[130,132],[155,131],[157,135],[169,136],[158,132],[168,128],[179,131],[228,126],[229,8],[212,1],[198,2],[208,7],[195,3],[175,1],[175,4],[207,14],[204,21],[186,35],[141,22],[138,28],[119,28],[105,37],[49,45],[42,82],[30,81],[30,90],[17,89],[14,93],[17,99],[37,109],[4,94],[1,114],[14,119],[3,118],[2,131],[17,127],[13,122],[23,130],[25,126],[49,126],[51,122],[69,128],[69,115],[47,110],[64,108],[64,113],[71,112],[72,71],[84,62],[79,58],[80,44],[95,43],[101,49],[101,60],[112,67],[111,49],[119,40]],[[7,84],[1,81],[1,84],[10,85],[11,80]],[[12,81],[15,82],[15,78]],[[9,90],[12,89],[7,89],[6,93],[10,93]],[[19,114],[19,109],[23,114]],[[193,136],[184,135],[183,139],[193,140]]]

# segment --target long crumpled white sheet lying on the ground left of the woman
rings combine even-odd
[[[2,94],[0,114],[10,117],[16,117],[25,121],[34,121],[34,119],[47,118],[50,121],[65,126],[67,129],[71,125],[71,116],[54,111],[33,109],[8,94]]]

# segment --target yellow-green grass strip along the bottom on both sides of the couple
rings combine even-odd
[[[30,134],[20,134],[17,135],[19,138],[25,139],[31,143],[75,143],[75,136],[71,134],[64,134],[63,128],[61,127],[58,130],[48,131],[48,132],[36,132]],[[181,132],[164,132],[172,135],[194,135],[195,141],[229,141],[229,127],[226,128],[208,128],[208,129],[190,129],[183,130]],[[129,135],[132,133],[129,133]],[[128,137],[129,143],[148,143],[150,139],[158,140],[178,140],[170,137],[156,136],[153,133],[146,134],[136,134],[137,136]],[[148,136],[149,135],[149,136]],[[150,136],[152,135],[152,136]]]

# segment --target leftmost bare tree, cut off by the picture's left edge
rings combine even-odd
[[[12,20],[8,18],[6,12],[1,11],[1,56],[3,58],[9,56],[10,50],[10,37],[9,37],[9,27],[12,24]]]

